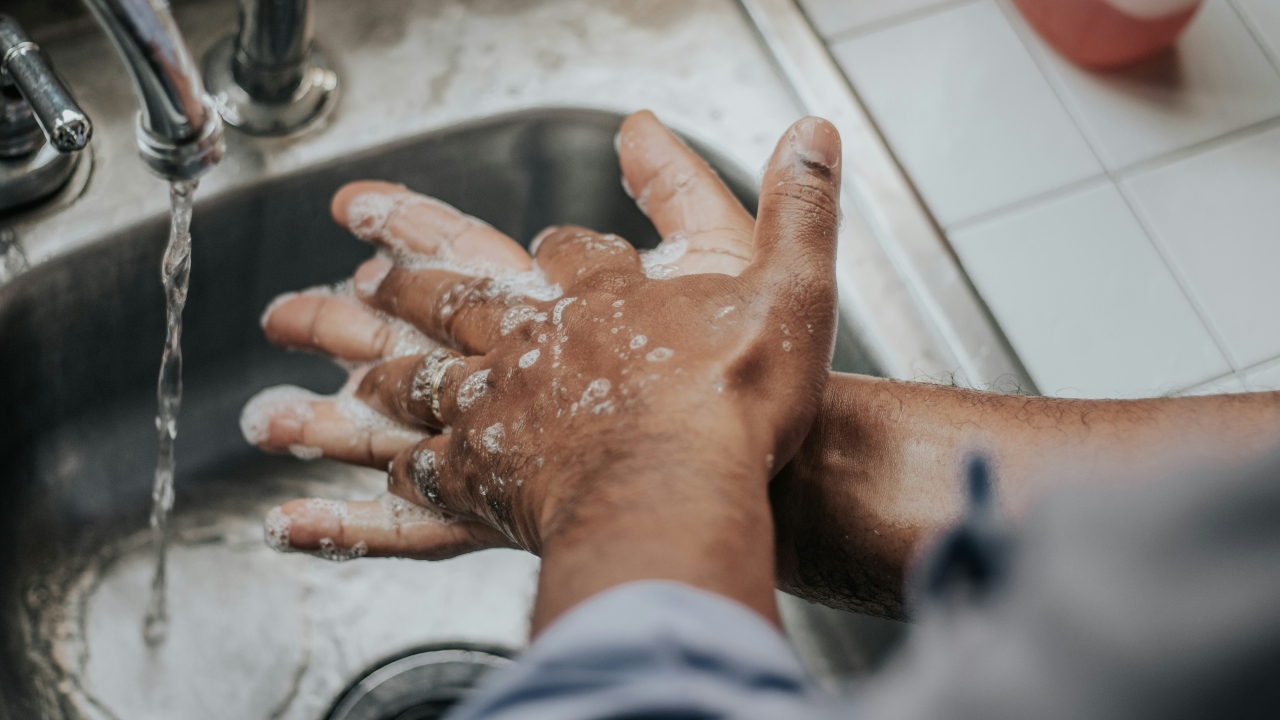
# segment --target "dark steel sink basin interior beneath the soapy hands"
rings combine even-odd
[[[259,315],[275,295],[340,281],[371,255],[328,215],[348,181],[403,182],[525,243],[548,224],[576,223],[657,245],[618,182],[621,120],[596,110],[517,113],[197,204],[172,626],[154,650],[141,626],[164,219],[0,288],[9,428],[0,437],[0,697],[10,715],[314,719],[361,673],[411,651],[517,650],[538,571],[526,553],[333,564],[268,550],[261,518],[270,506],[306,495],[375,497],[383,473],[260,454],[241,438],[238,414],[270,384],[332,392],[343,380],[323,357],[270,347]],[[754,209],[750,176],[694,145]],[[836,363],[858,361],[845,338]]]

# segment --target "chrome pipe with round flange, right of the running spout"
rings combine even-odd
[[[333,108],[338,76],[311,18],[312,0],[239,0],[239,29],[205,56],[205,81],[228,124],[292,135]]]

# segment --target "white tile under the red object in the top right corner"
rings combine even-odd
[[[1110,170],[1280,115],[1280,74],[1226,0],[1204,4],[1176,51],[1111,72],[1073,65],[1009,14]]]

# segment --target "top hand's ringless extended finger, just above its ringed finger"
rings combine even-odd
[[[374,259],[361,265],[356,277],[360,278],[366,268],[378,261]],[[357,283],[357,295],[366,290],[367,286]],[[360,297],[387,314],[402,318],[435,342],[468,355],[484,355],[502,337],[547,319],[547,313],[526,302],[526,296],[520,287],[502,278],[439,269],[390,268],[371,295]],[[548,292],[543,297],[554,297],[554,293]],[[529,328],[524,331],[529,332]]]

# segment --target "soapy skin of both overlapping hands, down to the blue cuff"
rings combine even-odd
[[[671,137],[652,115],[639,122]],[[636,142],[623,132],[623,147]],[[682,146],[671,150],[690,159]],[[306,445],[374,466],[390,460],[392,493],[460,521],[442,525],[433,544],[428,523],[404,532],[369,523],[369,505],[333,511],[302,501],[282,509],[289,544],[316,550],[328,538],[338,548],[364,543],[370,555],[417,557],[529,550],[543,559],[535,633],[586,597],[637,579],[717,592],[777,623],[768,482],[800,447],[828,375],[838,164],[835,128],[804,119],[765,170],[759,222],[704,218],[690,228],[691,255],[731,263],[733,274],[653,279],[626,241],[566,227],[534,245],[539,268],[563,290],[558,300],[506,296],[488,277],[379,256],[356,272],[355,297],[303,293],[275,305],[265,331],[279,345],[384,357],[394,328],[376,309],[463,359],[444,374],[439,418],[412,391],[431,377],[431,356],[381,360],[352,377],[357,398],[425,433],[407,447],[356,423],[342,438],[337,400],[278,414],[262,439],[269,450]],[[655,209],[673,209],[689,184],[675,169],[628,183]],[[700,160],[694,169],[694,192],[707,196],[699,202],[732,197],[709,184],[714,176]],[[370,193],[394,200],[385,223],[353,213]],[[397,258],[458,260],[466,249],[467,259],[499,269],[529,266],[509,238],[396,186],[344,188],[334,217]],[[522,364],[532,350],[539,360]],[[474,377],[486,392],[460,402],[460,386]],[[442,427],[451,432],[436,434]]]

